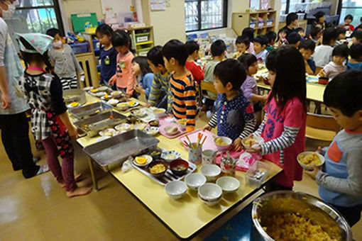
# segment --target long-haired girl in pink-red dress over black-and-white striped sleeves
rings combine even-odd
[[[267,66],[269,71],[276,73],[275,81],[265,105],[263,123],[253,133],[265,142],[253,147],[253,152],[280,165],[283,172],[267,184],[267,192],[291,190],[293,180],[302,179],[303,171],[297,163],[297,155],[305,150],[307,117],[305,61],[302,55],[290,45],[284,45],[276,54],[270,55]]]

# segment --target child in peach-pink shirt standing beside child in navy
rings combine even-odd
[[[133,86],[135,78],[132,74],[131,62],[133,53],[131,52],[131,38],[124,30],[115,30],[112,35],[112,45],[119,52],[117,55],[116,74],[109,80],[109,85],[116,84],[119,91],[126,92],[126,97],[133,96]]]

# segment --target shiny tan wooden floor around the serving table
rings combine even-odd
[[[323,144],[326,145],[307,140],[307,149],[315,150]],[[36,152],[34,146],[33,152],[42,157],[40,163],[45,164],[43,152]],[[87,158],[79,148],[75,169],[88,178],[82,185],[90,184]],[[0,240],[177,240],[111,175],[97,169],[97,176],[102,190],[66,198],[64,189],[50,172],[32,179],[23,179],[21,172],[13,172],[1,143]],[[303,181],[295,183],[295,190],[318,196],[317,184],[307,175]],[[202,240],[236,211],[221,218],[194,240]],[[353,235],[355,240],[362,240],[361,221],[353,227]]]

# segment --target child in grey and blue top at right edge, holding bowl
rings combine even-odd
[[[341,130],[324,153],[324,166],[307,172],[316,179],[319,196],[336,208],[352,227],[362,211],[362,74],[351,71],[337,75],[324,91]],[[323,148],[324,150],[324,148]],[[322,150],[319,147],[319,152]]]

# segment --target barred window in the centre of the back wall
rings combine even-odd
[[[225,28],[227,0],[185,0],[186,31]]]

